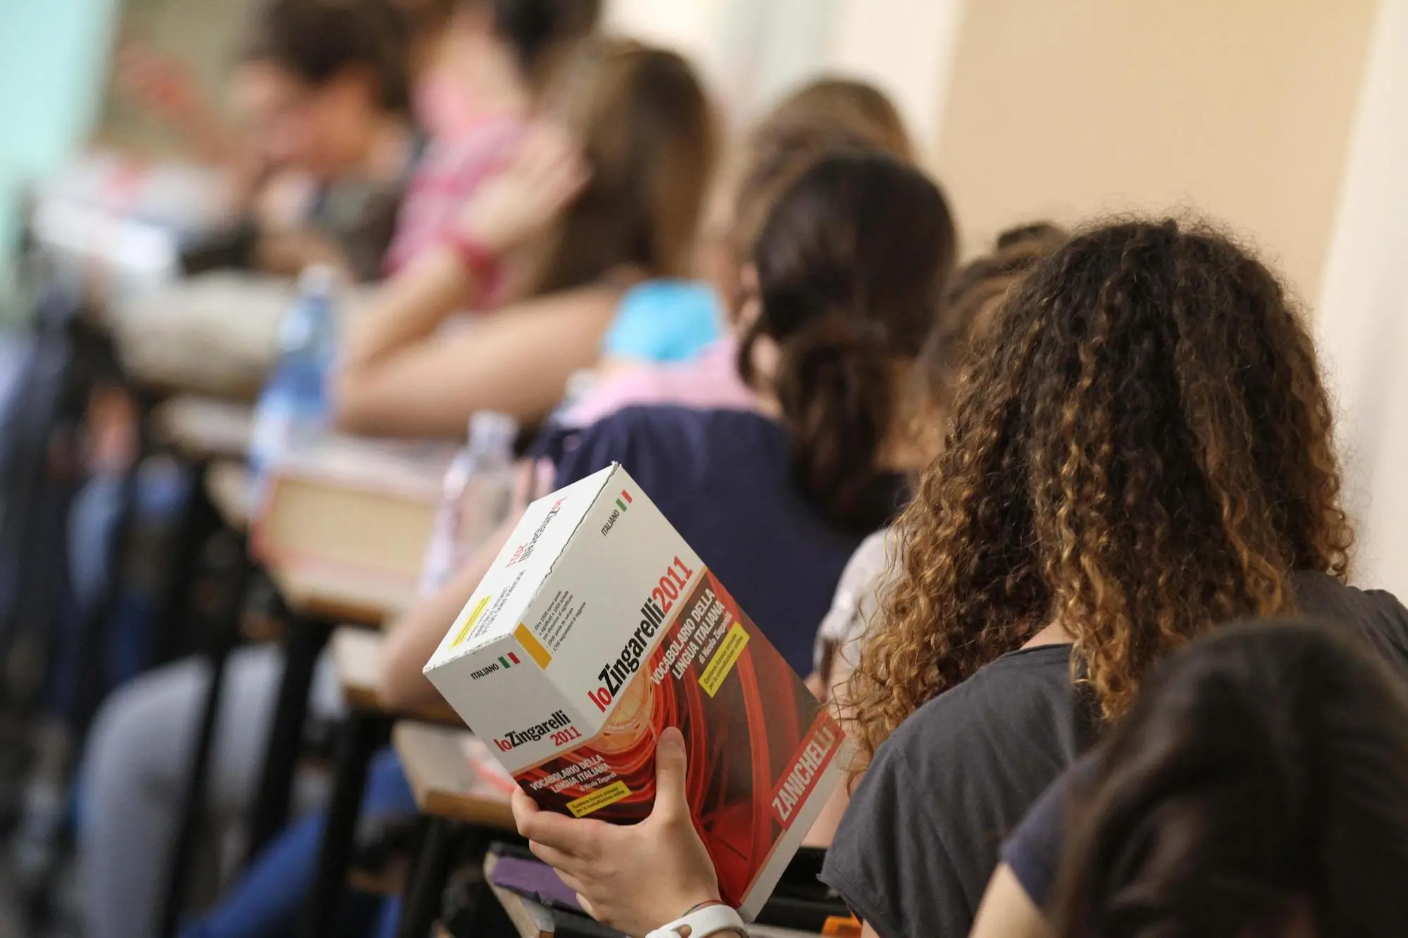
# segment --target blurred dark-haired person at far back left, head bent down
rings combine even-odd
[[[117,84],[206,141],[228,169],[238,219],[211,263],[297,274],[332,263],[375,280],[420,143],[410,115],[413,24],[384,0],[272,0],[231,77],[234,124],[182,68],[134,44]],[[211,138],[222,141],[217,145]]]

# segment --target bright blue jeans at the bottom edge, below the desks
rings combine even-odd
[[[366,817],[411,817],[415,799],[391,750],[372,761],[362,796]],[[317,873],[325,816],[318,813],[287,828],[255,859],[225,899],[182,930],[182,938],[283,938],[294,935]],[[345,908],[346,937],[393,935],[398,901],[358,893]]]

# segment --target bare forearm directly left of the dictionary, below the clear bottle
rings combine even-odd
[[[390,627],[382,651],[379,693],[389,710],[414,710],[439,703],[439,692],[421,674],[451,623],[474,595],[500,548],[508,543],[518,516],[511,516],[484,541],[458,574],[425,596]]]

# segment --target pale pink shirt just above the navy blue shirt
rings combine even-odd
[[[725,336],[690,361],[638,364],[608,374],[560,419],[567,426],[590,426],[622,408],[648,404],[727,411],[758,408],[753,392],[738,377],[738,343]]]

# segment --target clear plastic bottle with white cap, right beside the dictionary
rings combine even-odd
[[[518,420],[480,411],[469,420],[469,444],[445,473],[445,492],[421,571],[421,591],[441,586],[489,539],[513,508],[514,440]]]

